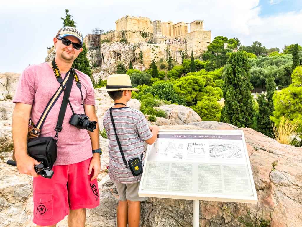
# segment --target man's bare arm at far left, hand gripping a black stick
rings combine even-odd
[[[17,162],[20,173],[36,177],[38,175],[34,170],[34,165],[38,165],[39,162],[27,154],[27,133],[31,106],[18,102],[15,105],[12,122],[13,159]]]

